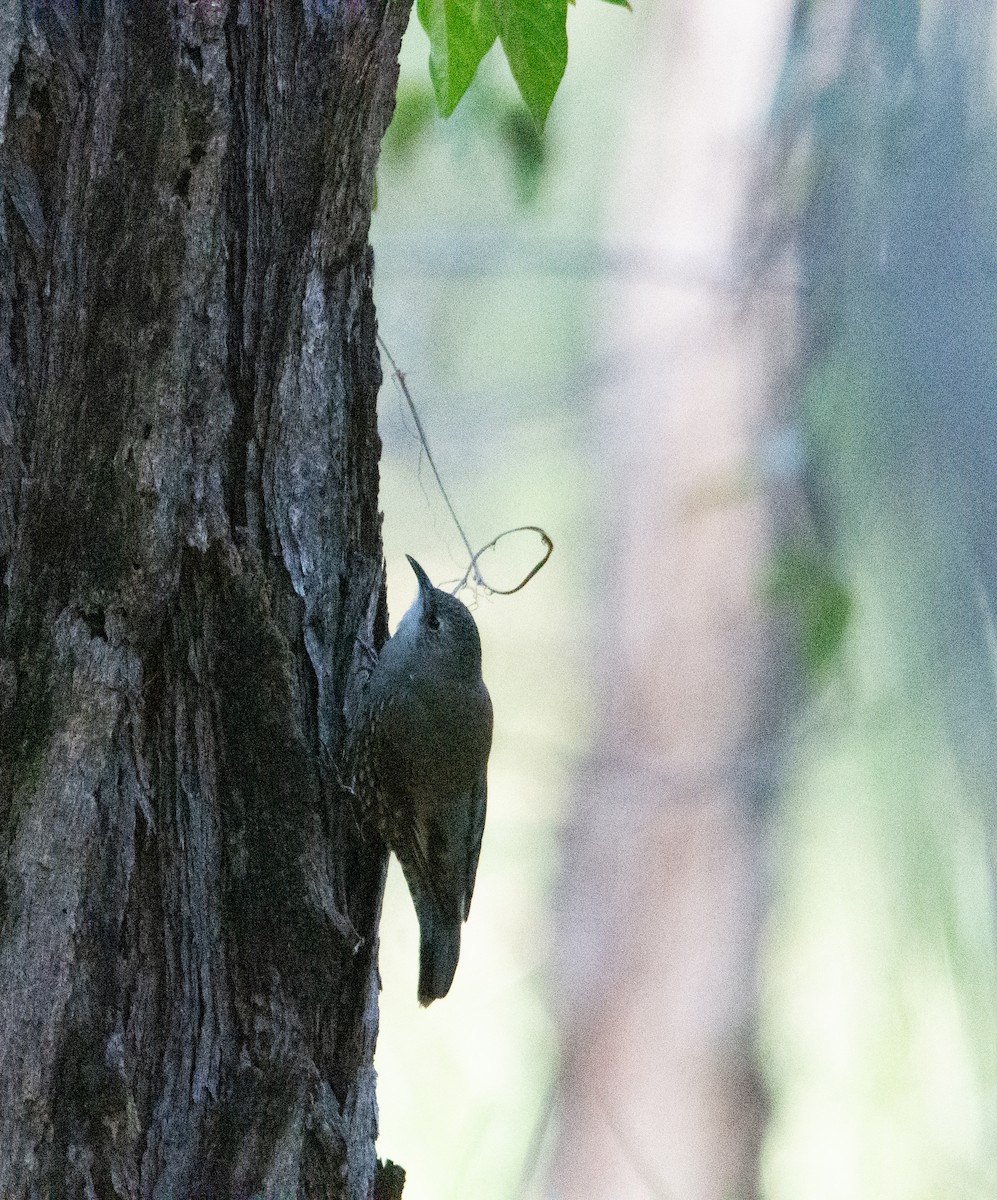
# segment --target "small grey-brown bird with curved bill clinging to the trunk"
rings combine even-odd
[[[450,991],[470,913],[493,714],[474,617],[406,558],[419,594],[367,680],[355,787],[412,894],[425,1007]]]

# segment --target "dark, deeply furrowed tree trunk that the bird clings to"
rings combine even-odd
[[[367,1196],[408,5],[0,10],[0,1195]]]

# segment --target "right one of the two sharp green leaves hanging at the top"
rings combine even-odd
[[[494,0],[494,11],[512,78],[542,126],[567,66],[567,0]]]

